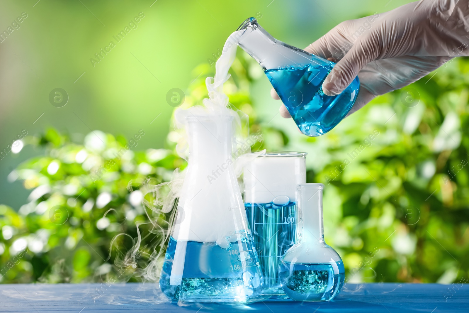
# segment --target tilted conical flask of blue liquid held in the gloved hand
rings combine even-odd
[[[342,93],[326,96],[322,83],[334,62],[273,38],[254,17],[244,21],[241,30],[238,45],[264,69],[303,134],[323,135],[347,115],[358,95],[358,77]]]

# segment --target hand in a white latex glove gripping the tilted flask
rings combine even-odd
[[[468,0],[421,0],[342,22],[304,50],[337,62],[322,85],[326,95],[339,94],[358,75],[360,92],[350,115],[376,96],[469,55],[468,36]],[[280,99],[273,89],[271,94]],[[290,117],[283,105],[280,115]]]

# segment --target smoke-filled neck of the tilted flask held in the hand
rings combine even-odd
[[[252,56],[264,70],[301,66],[311,63],[310,53],[273,38],[253,17],[240,25],[238,45]]]

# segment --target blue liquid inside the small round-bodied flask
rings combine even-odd
[[[280,282],[288,298],[295,301],[327,301],[333,299],[344,284],[343,262],[302,264],[282,262]]]

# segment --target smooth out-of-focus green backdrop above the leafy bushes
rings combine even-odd
[[[11,144],[22,130],[37,134],[53,127],[75,142],[94,129],[126,137],[144,129],[147,135],[139,149],[163,148],[173,111],[167,92],[186,89],[200,73],[191,69],[209,64],[207,59],[214,59],[246,18],[255,16],[275,38],[305,47],[344,20],[410,1],[1,1],[2,31],[23,12],[28,17],[0,44],[0,147]],[[117,42],[113,37],[140,13],[145,16],[137,28]],[[110,41],[116,46],[93,64],[95,53]],[[49,100],[56,88],[68,94],[64,107]],[[258,88],[251,96],[256,113],[263,118],[265,107],[265,122],[271,120],[276,110],[268,89]],[[280,119],[277,115],[268,125]],[[270,148],[281,149],[278,135],[269,137]],[[37,154],[30,146],[0,162],[0,203],[15,208],[24,204],[27,192],[5,177]]]

